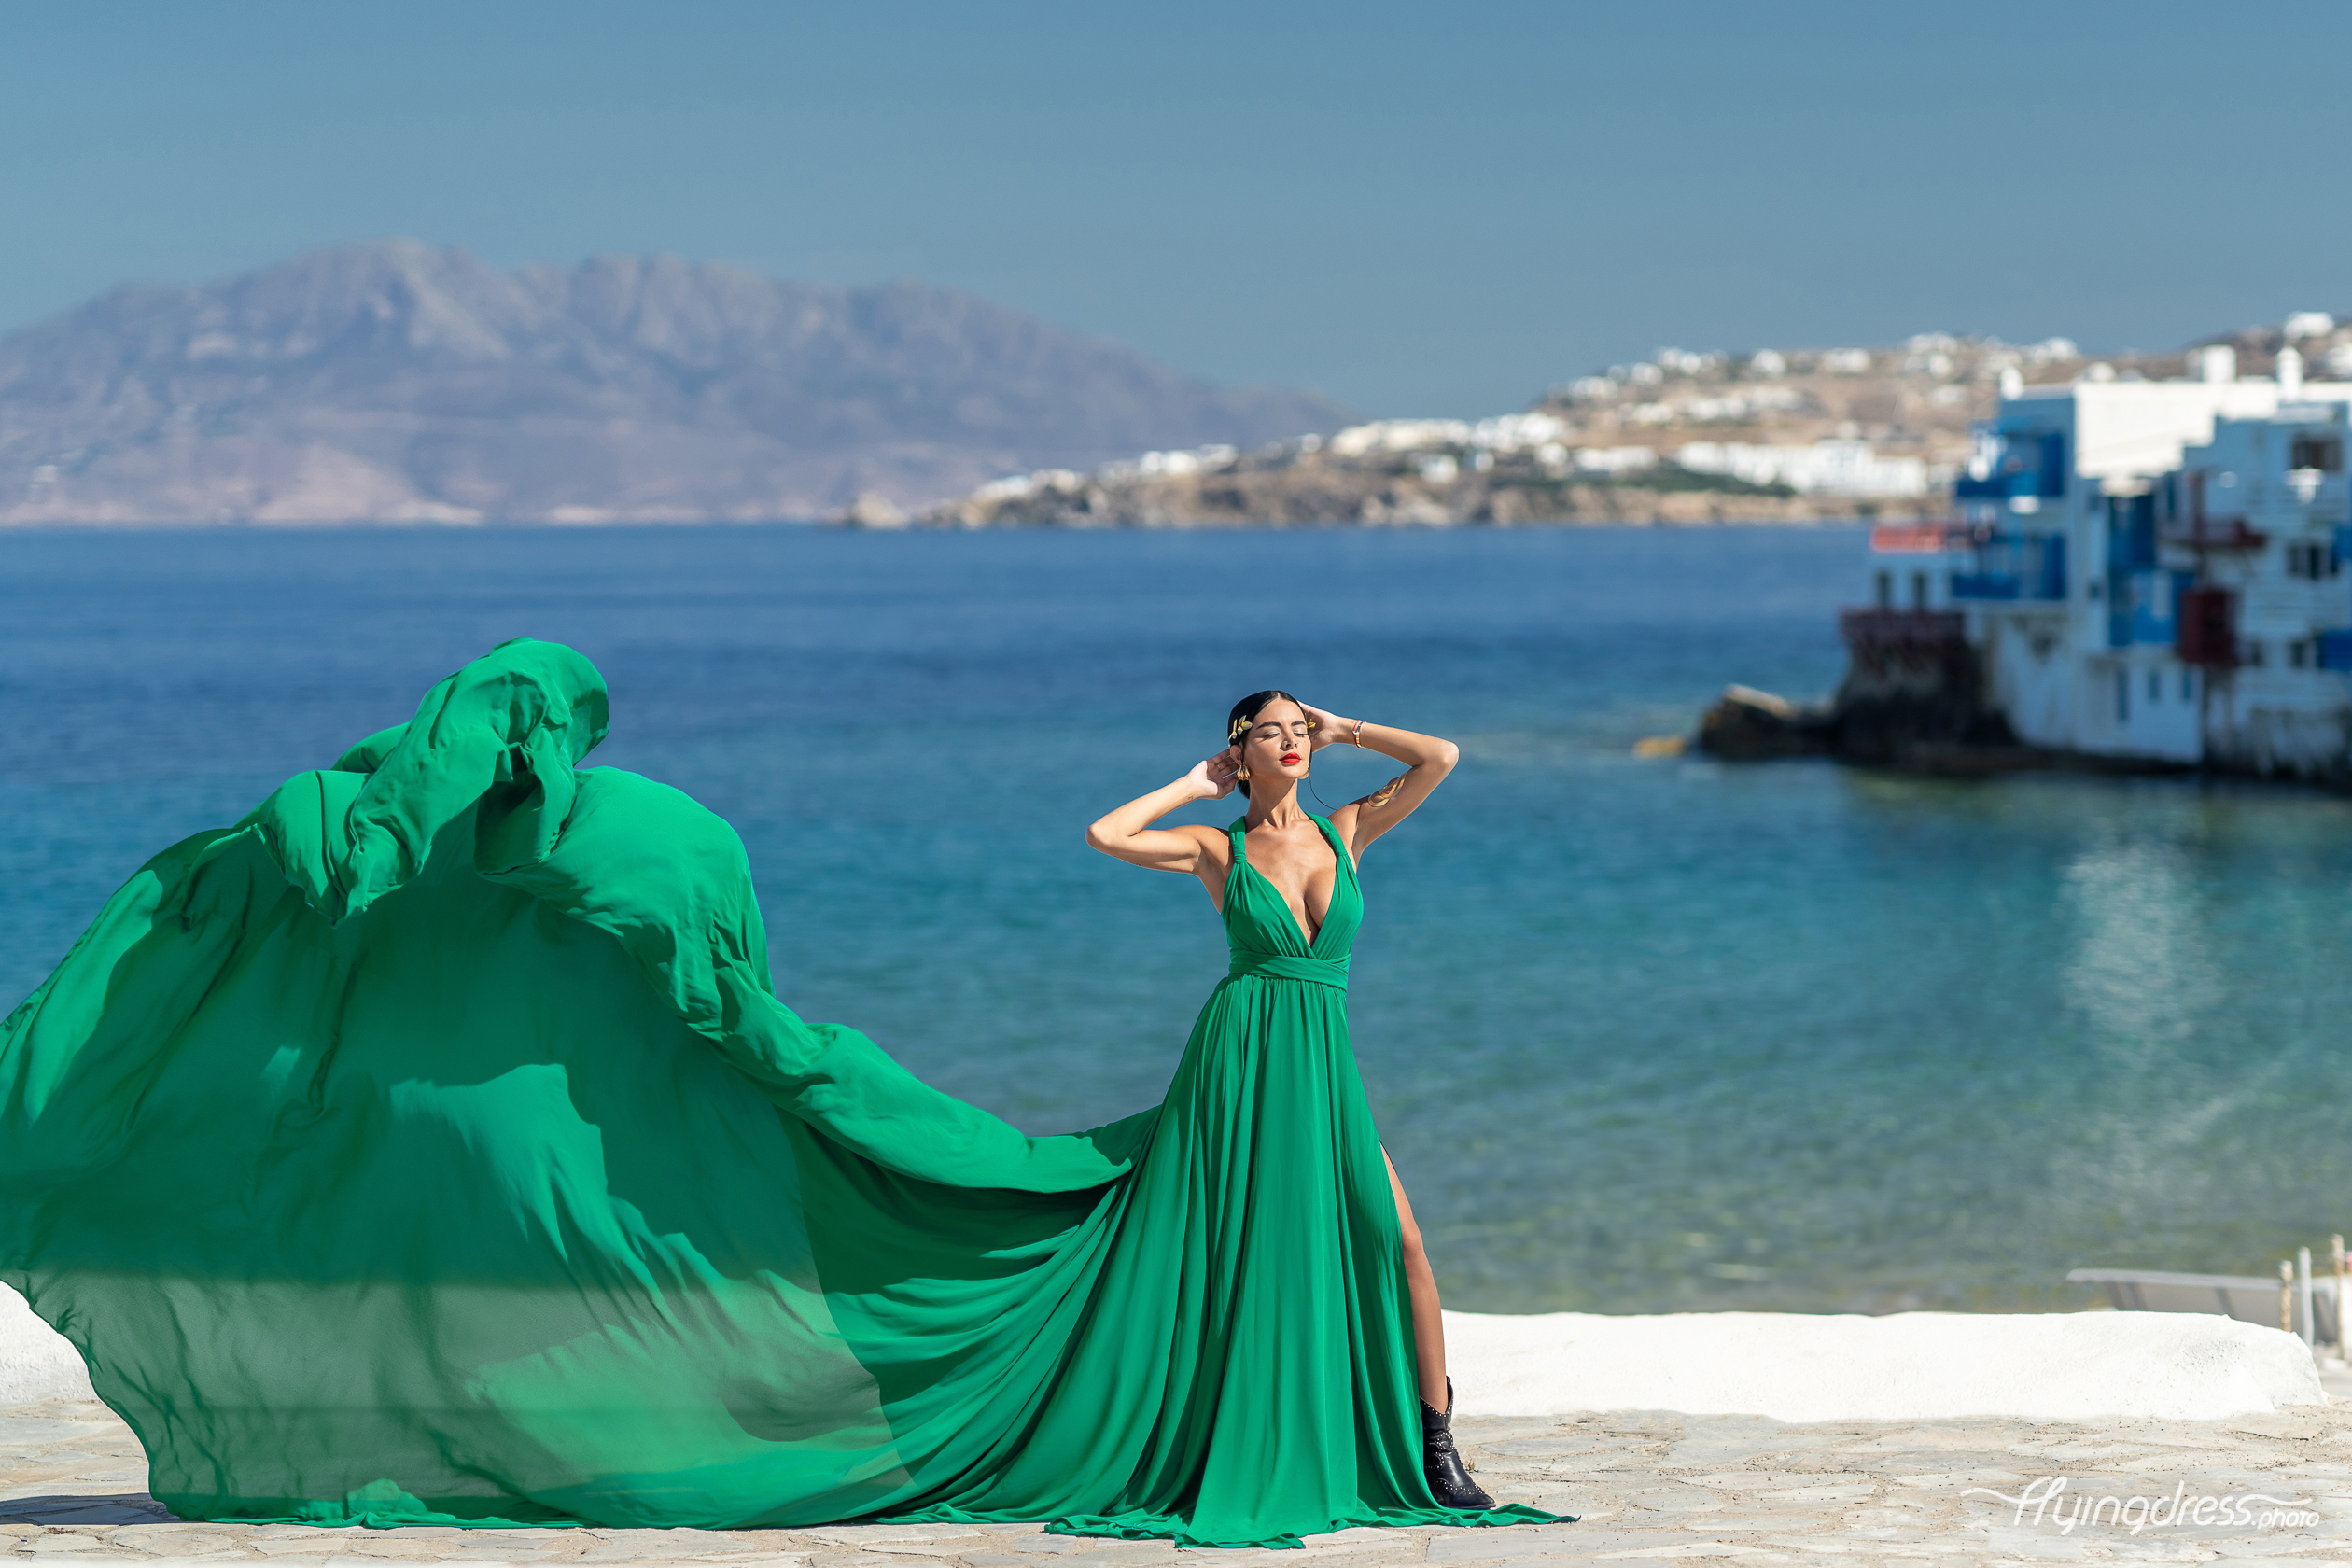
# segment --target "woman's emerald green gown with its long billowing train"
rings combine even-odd
[[[148,860],[0,1030],[0,1279],[191,1519],[1049,1519],[1296,1544],[1449,1512],[1315,943],[1240,853],[1167,1103],[1028,1138],[769,990],[734,830],[579,769],[510,642]],[[1329,835],[1329,823],[1324,823]],[[1334,842],[1336,846],[1336,842]]]

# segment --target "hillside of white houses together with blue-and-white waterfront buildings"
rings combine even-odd
[[[1040,470],[924,527],[1870,520],[1825,710],[1733,689],[1700,743],[1983,773],[2352,780],[2352,324],[2171,355],[1919,334],[1661,350],[1482,421]],[[854,517],[906,527],[906,517]]]

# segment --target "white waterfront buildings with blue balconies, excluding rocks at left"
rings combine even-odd
[[[2194,381],[2004,397],[1955,487],[1962,522],[1877,531],[1877,609],[1957,611],[2023,743],[2352,762],[2352,386],[2303,383],[2293,360],[2237,378],[2225,353]]]

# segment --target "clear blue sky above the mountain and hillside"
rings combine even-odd
[[[1484,414],[1658,346],[2352,313],[2352,7],[16,0],[0,329],[414,235],[953,284]]]

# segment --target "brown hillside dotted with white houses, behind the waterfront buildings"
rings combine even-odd
[[[2303,324],[2310,329],[2310,322]],[[2265,362],[2265,334],[2246,339]],[[2326,350],[2336,343],[2328,322]],[[1879,348],[1663,348],[1494,418],[1388,418],[1254,451],[1145,451],[1091,473],[1009,475],[931,508],[929,527],[1839,522],[1931,517],[2006,388],[2133,383],[2183,355],[2086,360],[1926,331]],[[851,522],[894,527],[866,498]]]

